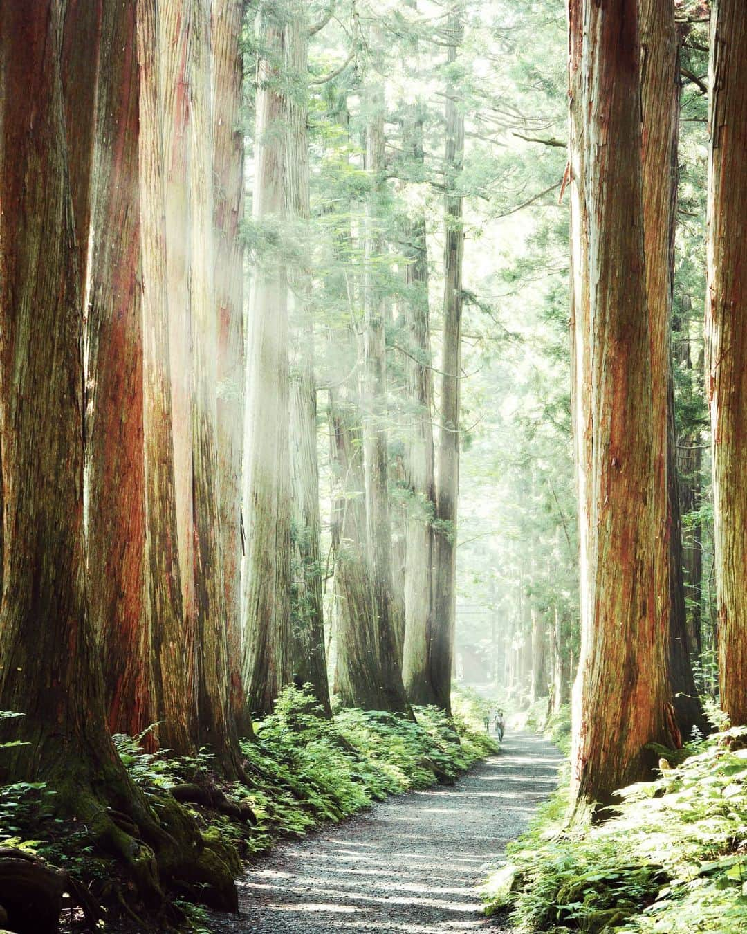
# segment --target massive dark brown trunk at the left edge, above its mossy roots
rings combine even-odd
[[[86,602],[82,314],[61,37],[59,2],[0,6],[0,709],[23,714],[12,732],[26,743],[5,750],[3,780],[52,777],[82,795],[115,754]],[[84,120],[92,113],[76,116]],[[86,166],[90,152],[78,177]]]

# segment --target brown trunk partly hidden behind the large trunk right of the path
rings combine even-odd
[[[679,42],[674,0],[639,0],[643,145],[643,234],[654,398],[655,594],[669,630],[669,679],[683,736],[706,727],[690,666],[684,616],[682,535],[674,470],[671,307],[677,202]]]

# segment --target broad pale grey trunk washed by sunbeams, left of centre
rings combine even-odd
[[[260,62],[253,215],[283,219],[285,127],[278,88],[284,23],[263,19],[268,58]],[[290,474],[288,282],[283,261],[265,256],[249,294],[245,433],[244,683],[260,715],[290,681]]]

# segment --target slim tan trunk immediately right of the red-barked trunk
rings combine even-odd
[[[152,639],[159,741],[179,755],[190,736],[191,634],[185,628],[179,568],[160,66],[160,24],[153,0],[137,3],[140,83],[138,136],[142,263],[145,604]]]

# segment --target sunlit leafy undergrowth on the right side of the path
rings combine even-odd
[[[520,932],[747,931],[747,729],[689,743],[615,815],[569,828],[568,786],[486,883],[486,912]],[[670,757],[673,763],[675,757]]]

